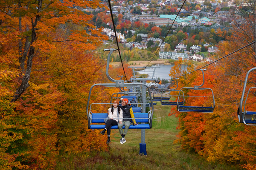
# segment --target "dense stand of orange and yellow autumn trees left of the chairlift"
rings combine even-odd
[[[85,116],[90,86],[106,80],[104,62],[92,52],[106,37],[89,23],[93,16],[73,6],[102,7],[81,0],[0,4],[4,167],[54,169],[61,153],[107,150]],[[93,92],[91,102],[109,100],[108,89],[97,90],[102,96]]]

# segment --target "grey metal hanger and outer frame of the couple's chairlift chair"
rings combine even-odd
[[[116,87],[116,88],[124,88],[124,87],[134,87],[134,86],[139,86],[139,85],[142,85],[142,86],[145,86],[146,88],[148,88],[148,91],[150,91],[150,88],[148,87],[148,85],[146,84],[143,84],[143,83],[124,83],[124,80],[115,80],[115,79],[112,79],[110,77],[110,75],[108,74],[108,69],[109,69],[109,63],[110,63],[110,56],[111,54],[113,53],[113,51],[116,51],[118,49],[104,49],[104,51],[110,51],[109,54],[108,54],[108,60],[107,60],[107,67],[106,67],[106,75],[108,77],[109,80],[111,80],[112,82],[115,82],[115,83],[99,83],[99,84],[94,84],[91,86],[90,88],[90,91],[89,91],[89,95],[88,95],[88,100],[87,100],[87,106],[86,106],[86,113],[87,113],[87,120],[88,120],[88,129],[90,129],[90,124],[91,124],[91,116],[90,116],[90,112],[88,110],[89,108],[89,105],[90,105],[90,96],[91,96],[91,92],[92,92],[92,89],[93,87],[95,86],[104,86],[104,87]],[[154,105],[153,105],[153,101],[152,101],[152,97],[151,97],[151,94],[149,94],[149,97],[150,97],[150,100],[151,100],[151,104],[152,104],[152,113],[150,115],[150,119],[149,119],[149,125],[150,125],[150,128],[152,128],[152,118],[153,118],[153,114],[154,114]]]

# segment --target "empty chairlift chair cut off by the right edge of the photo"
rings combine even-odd
[[[240,99],[240,105],[239,105],[239,108],[238,108],[238,111],[237,111],[237,115],[238,115],[238,119],[239,119],[240,123],[244,123],[245,125],[255,126],[256,125],[256,111],[248,111],[248,110],[253,110],[253,109],[246,106],[246,104],[248,102],[248,99],[250,99],[250,100],[255,99],[254,95],[249,96],[249,94],[250,94],[250,91],[253,91],[254,89],[256,89],[256,87],[249,88],[249,90],[247,92],[246,99],[244,100],[244,94],[245,94],[245,91],[246,91],[247,79],[249,77],[250,72],[253,71],[253,70],[256,70],[256,67],[250,69],[246,74],[246,77],[245,77],[245,80],[244,80],[244,88],[243,88],[243,91],[242,91],[242,96],[241,96],[241,99]],[[253,93],[255,93],[255,91],[253,91]],[[243,101],[244,101],[244,105],[243,105]],[[252,104],[255,105],[255,100],[252,101]]]

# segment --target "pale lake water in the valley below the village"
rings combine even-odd
[[[169,73],[170,73],[173,66],[174,66],[174,64],[170,64],[170,65],[163,65],[163,64],[152,65],[152,67],[160,67],[160,68],[156,68],[153,78],[160,77],[161,80],[162,79],[171,79],[171,77],[169,77]],[[188,67],[188,65],[181,65],[181,67],[182,67],[182,69],[186,69]],[[140,74],[148,74],[148,77],[152,77],[153,71],[154,71],[154,68],[146,68],[146,69],[138,71],[138,72]]]

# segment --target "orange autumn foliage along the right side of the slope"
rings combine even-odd
[[[243,31],[241,31],[241,27]],[[244,24],[241,27],[233,28],[233,35],[229,37],[228,41],[219,43],[219,51],[212,55],[212,60],[230,54],[252,41],[251,38],[255,36],[251,31],[251,26]],[[216,34],[227,36],[227,33],[220,29],[216,31]],[[221,59],[207,67],[207,71],[204,72],[205,84],[203,87],[211,88],[214,92],[216,106],[213,113],[179,113],[176,108],[172,108],[170,114],[179,117],[177,128],[180,129],[180,138],[176,142],[180,142],[184,149],[195,151],[205,156],[208,161],[229,162],[248,170],[255,168],[256,127],[240,124],[236,113],[245,75],[250,68],[256,67],[255,55],[254,46],[250,46],[244,51]],[[191,71],[191,68],[184,71],[179,66],[180,64],[180,61],[175,62],[170,76],[177,77]],[[255,77],[256,73],[252,72],[246,91],[250,87],[255,87]],[[180,77],[179,87],[193,87],[200,85],[201,82],[201,73],[196,71]],[[184,93],[190,96],[209,95],[205,91],[184,91]],[[192,106],[205,106],[210,100],[187,99],[186,102]],[[249,94],[247,103],[247,111],[256,110],[255,91]]]

